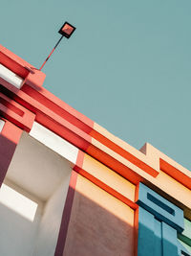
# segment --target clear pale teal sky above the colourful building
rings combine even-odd
[[[0,43],[39,68],[70,22],[76,30],[43,68],[44,87],[191,170],[190,13],[190,0],[1,0]]]

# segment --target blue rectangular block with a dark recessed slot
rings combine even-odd
[[[151,212],[159,221],[166,222],[179,232],[183,231],[183,211],[142,183],[139,183],[137,203]]]

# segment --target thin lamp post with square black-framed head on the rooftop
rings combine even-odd
[[[50,55],[45,59],[45,61],[43,62],[42,66],[39,68],[39,70],[41,70],[44,65],[46,64],[46,62],[49,60],[49,58],[53,55],[53,52],[55,51],[55,48],[58,46],[58,44],[61,42],[63,37],[66,38],[70,38],[71,35],[73,35],[75,30],[75,27],[73,25],[71,25],[68,22],[65,22],[64,25],[62,25],[62,27],[60,28],[60,30],[58,31],[59,34],[61,34],[61,37],[59,38],[59,40],[56,42],[55,46],[53,47],[53,50],[51,51]]]

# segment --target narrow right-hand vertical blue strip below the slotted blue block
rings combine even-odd
[[[177,230],[165,222],[162,225],[162,256],[178,256]]]

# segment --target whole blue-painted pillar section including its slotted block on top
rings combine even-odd
[[[138,256],[191,256],[188,244],[179,237],[190,236],[190,225],[183,230],[183,211],[140,183],[138,193]]]

